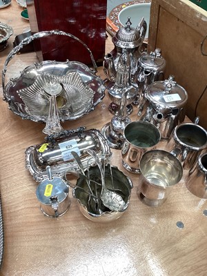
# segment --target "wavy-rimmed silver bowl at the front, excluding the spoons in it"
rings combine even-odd
[[[91,166],[86,170],[86,175],[90,175],[90,189],[87,184],[86,177],[79,177],[77,185],[72,190],[72,195],[77,199],[77,204],[81,213],[91,221],[95,222],[110,222],[118,219],[125,213],[130,203],[130,195],[132,190],[132,181],[130,177],[124,175],[116,166],[105,166],[105,181],[106,187],[117,193],[125,201],[126,205],[121,210],[110,210],[104,206],[101,200],[101,175],[97,166]],[[97,201],[94,201],[91,191],[95,193]],[[111,201],[115,198],[111,197]]]

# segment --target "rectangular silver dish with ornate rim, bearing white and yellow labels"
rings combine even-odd
[[[63,177],[68,170],[79,170],[71,150],[77,152],[86,169],[88,160],[91,160],[86,152],[88,149],[95,150],[99,159],[103,154],[111,155],[108,143],[99,130],[85,130],[84,127],[63,130],[57,135],[49,135],[42,144],[26,149],[26,168],[37,182],[48,177],[46,166],[50,166],[52,176]]]

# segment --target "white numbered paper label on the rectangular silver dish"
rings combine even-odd
[[[72,151],[77,152],[77,155],[79,156],[81,155],[77,141],[75,139],[59,143],[58,145],[63,156],[63,161],[69,161],[74,158],[71,154]]]

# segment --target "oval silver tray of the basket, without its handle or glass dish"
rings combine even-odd
[[[19,115],[22,119],[46,122],[46,112],[43,112],[42,115],[31,114],[28,112],[28,107],[26,106],[25,101],[21,99],[17,91],[32,86],[37,78],[42,74],[64,77],[70,75],[71,72],[77,72],[80,75],[82,82],[88,86],[88,88],[93,90],[93,101],[90,106],[83,107],[83,109],[78,110],[78,112],[70,112],[70,114],[67,114],[67,112],[60,112],[59,117],[61,121],[78,119],[94,110],[95,106],[97,106],[97,104],[103,99],[106,88],[103,86],[103,81],[100,77],[94,75],[88,66],[85,66],[78,61],[42,61],[41,63],[34,63],[32,66],[25,68],[18,78],[12,79],[6,84],[4,97],[9,103],[10,110],[12,110],[15,115]]]

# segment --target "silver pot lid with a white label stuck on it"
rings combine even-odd
[[[155,81],[148,86],[146,98],[151,102],[170,108],[184,106],[188,100],[186,90],[174,81],[170,75],[165,81]]]

